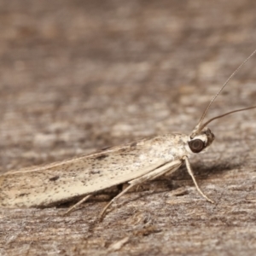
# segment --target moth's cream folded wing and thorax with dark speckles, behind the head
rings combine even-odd
[[[166,134],[0,176],[1,207],[46,207],[131,181],[188,155],[188,137]],[[178,145],[178,147],[177,147]]]

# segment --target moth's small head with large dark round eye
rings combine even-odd
[[[193,153],[200,153],[212,144],[214,138],[214,134],[208,127],[204,127],[200,132],[193,131],[189,136],[189,148]]]

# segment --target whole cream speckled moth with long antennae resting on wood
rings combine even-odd
[[[238,70],[250,59],[247,57],[240,67],[230,75],[218,93],[213,96],[199,123],[191,134],[169,133],[145,138],[123,146],[107,148],[94,154],[74,157],[44,166],[32,166],[18,171],[6,172],[0,176],[0,207],[50,207],[62,202],[83,199],[69,208],[79,206],[91,195],[122,183],[129,183],[119,195],[104,207],[101,217],[108,207],[129,189],[162,175],[170,175],[185,163],[198,192],[213,203],[198,186],[189,163],[189,156],[199,154],[208,148],[214,135],[207,127],[214,119],[230,113],[244,111],[242,108],[224,113],[203,123],[212,102]],[[66,213],[67,213],[66,212]]]

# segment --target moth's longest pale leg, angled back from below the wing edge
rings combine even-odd
[[[100,214],[100,218],[102,219],[104,217],[104,214],[107,211],[108,207],[110,207],[114,201],[119,199],[119,197],[124,195],[132,187],[139,185],[147,180],[154,179],[155,177],[159,177],[159,176],[163,175],[164,173],[169,172],[171,168],[177,167],[180,165],[181,165],[180,160],[172,161],[170,163],[167,163],[165,166],[160,166],[157,169],[154,169],[154,171],[144,174],[142,177],[137,177],[137,178],[131,180],[129,182],[130,185],[125,190],[123,190],[119,195],[116,195],[111,201],[108,202],[108,205],[106,207],[104,207],[104,209],[102,210],[102,212]]]

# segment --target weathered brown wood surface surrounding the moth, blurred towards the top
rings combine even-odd
[[[250,1],[0,1],[0,172],[189,133],[256,48]],[[256,57],[208,118],[255,105]],[[209,125],[185,168],[119,200],[0,209],[0,255],[255,255],[256,111]]]

